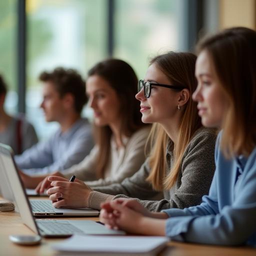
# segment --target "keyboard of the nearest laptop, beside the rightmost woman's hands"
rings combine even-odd
[[[84,233],[81,229],[64,220],[61,222],[56,220],[37,220],[36,224],[46,234]]]

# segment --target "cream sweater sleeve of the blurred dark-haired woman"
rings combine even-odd
[[[86,184],[91,188],[106,186],[112,183],[121,183],[124,178],[132,176],[145,161],[144,150],[149,130],[150,127],[145,127],[131,136],[125,148],[125,157],[114,176],[88,181]]]

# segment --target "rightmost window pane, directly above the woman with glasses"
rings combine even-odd
[[[143,78],[148,59],[177,48],[177,0],[116,0],[114,56]]]

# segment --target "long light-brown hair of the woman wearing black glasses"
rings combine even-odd
[[[154,124],[150,132],[149,139],[152,149],[149,156],[149,165],[151,171],[147,180],[152,183],[156,190],[169,189],[175,183],[183,152],[194,132],[202,126],[197,114],[196,103],[192,101],[191,97],[197,84],[194,76],[195,60],[196,56],[193,53],[171,51],[158,55],[150,61],[150,64],[154,63],[168,77],[170,83],[183,85],[190,93],[189,99],[182,107],[183,114],[177,139],[175,144],[172,145],[174,162],[168,175],[166,175],[165,170],[166,145],[169,138],[159,124]]]

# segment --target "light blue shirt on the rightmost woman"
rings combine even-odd
[[[256,246],[256,147],[248,158],[226,159],[215,147],[216,170],[202,203],[163,210],[166,235],[174,240]]]

